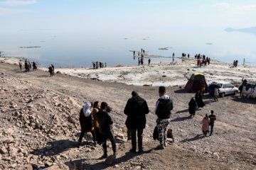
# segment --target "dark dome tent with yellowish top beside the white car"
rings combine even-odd
[[[203,87],[205,88],[202,91]],[[188,83],[185,86],[185,90],[188,92],[196,93],[197,91],[207,92],[208,86],[206,84],[206,79],[201,73],[192,74],[191,78],[188,80]]]

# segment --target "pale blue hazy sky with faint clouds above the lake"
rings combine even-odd
[[[248,28],[255,21],[255,0],[0,0],[1,33]]]

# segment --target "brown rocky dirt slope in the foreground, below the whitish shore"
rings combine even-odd
[[[193,94],[168,87],[174,100],[169,128],[175,142],[156,149],[152,139],[156,125],[153,114],[157,87],[81,79],[47,72],[21,72],[14,64],[0,63],[0,169],[255,169],[256,101],[227,96],[188,118],[188,101]],[[146,99],[151,113],[144,130],[144,153],[129,153],[123,113],[131,91]],[[112,106],[117,137],[117,162],[107,166],[102,147],[94,147],[91,136],[79,149],[78,115],[87,101],[107,101]],[[203,115],[217,115],[211,137],[201,135]],[[110,145],[110,143],[108,143]],[[110,145],[111,146],[111,145]],[[112,154],[111,148],[109,154]]]

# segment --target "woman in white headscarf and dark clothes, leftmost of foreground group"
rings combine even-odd
[[[85,106],[80,111],[80,125],[81,125],[81,134],[78,140],[78,147],[80,147],[82,142],[82,137],[84,137],[86,132],[92,133],[93,142],[96,142],[95,132],[92,125],[92,114],[90,111],[92,104],[90,102],[86,103]]]

